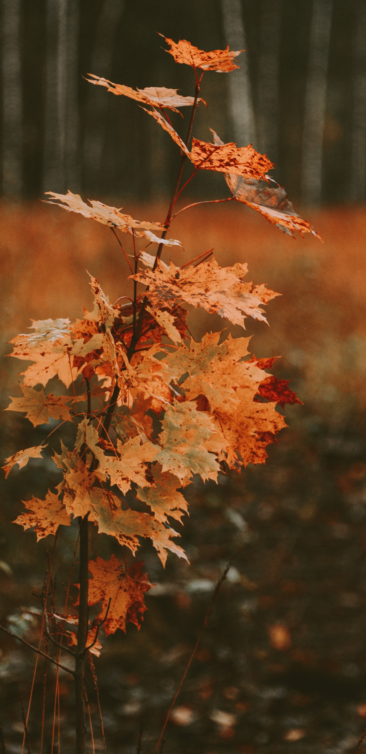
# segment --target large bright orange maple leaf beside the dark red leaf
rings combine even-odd
[[[204,395],[209,402],[217,434],[204,443],[206,448],[216,452],[219,460],[226,460],[230,468],[263,463],[266,446],[275,441],[285,420],[273,403],[254,400],[268,375],[244,360],[249,338],[229,336],[218,345],[219,339],[220,333],[209,333],[202,342],[191,342],[190,350],[182,345],[164,360],[176,379],[188,374],[180,385],[186,400],[193,402]]]

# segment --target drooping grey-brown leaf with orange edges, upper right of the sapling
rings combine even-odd
[[[210,128],[210,131],[213,135],[213,143],[218,146],[225,146],[224,142],[221,141],[218,134],[212,128]],[[288,233],[291,236],[294,236],[294,231],[298,231],[300,235],[303,235],[303,233],[313,233],[316,238],[322,241],[319,233],[312,228],[310,222],[300,218],[294,211],[294,207],[292,207],[291,201],[288,200],[285,189],[282,189],[280,186],[273,189],[267,182],[256,179],[256,176],[238,177],[234,173],[235,170],[231,169],[230,173],[225,171],[225,180],[231,194],[237,201],[242,201],[243,204],[252,207],[252,210],[261,213],[269,222],[276,225],[284,233]]]

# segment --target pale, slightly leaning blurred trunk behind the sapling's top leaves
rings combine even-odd
[[[230,50],[246,50],[246,34],[242,20],[242,5],[239,0],[221,0],[225,44]],[[254,143],[256,146],[255,115],[252,102],[252,87],[249,78],[248,53],[239,57],[239,68],[227,73],[229,87],[229,112],[233,127],[233,141],[238,146]],[[231,140],[231,139],[230,139]]]

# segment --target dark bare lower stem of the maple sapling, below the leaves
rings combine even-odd
[[[86,752],[86,727],[85,727],[85,647],[87,645],[88,624],[88,565],[89,565],[89,541],[88,520],[79,518],[80,526],[80,567],[79,567],[79,622],[78,622],[78,645],[75,660],[75,728],[76,728],[76,754]]]

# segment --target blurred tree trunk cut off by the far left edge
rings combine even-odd
[[[23,187],[23,96],[20,0],[1,2],[2,192],[17,197]]]

